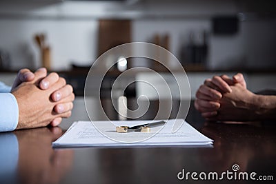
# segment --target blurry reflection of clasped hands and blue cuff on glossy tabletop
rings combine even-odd
[[[1,133],[13,139],[15,136],[17,142],[11,144],[9,139],[1,145],[2,156],[14,156],[17,165],[13,174],[9,173],[14,183],[59,183],[61,178],[72,167],[72,150],[53,150],[51,143],[63,134],[60,127],[43,127],[33,130],[19,130],[14,132]],[[18,149],[9,150],[5,147],[18,147]],[[17,153],[18,152],[18,153]],[[5,154],[3,154],[5,153]],[[18,156],[18,158],[16,157]],[[1,163],[6,159],[1,157]],[[3,171],[5,168],[1,168]],[[10,178],[1,175],[1,182],[10,183]]]

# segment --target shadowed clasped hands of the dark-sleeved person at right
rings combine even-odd
[[[266,96],[246,89],[240,73],[232,79],[226,75],[206,79],[197,90],[196,98],[195,108],[204,118],[213,121],[254,121],[262,119],[269,110],[275,111],[273,105],[265,106]]]

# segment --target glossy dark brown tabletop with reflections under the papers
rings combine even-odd
[[[75,104],[75,111],[83,112],[82,105]],[[72,118],[68,120],[71,123],[79,118],[75,113],[79,114],[73,112]],[[228,180],[224,175],[224,183],[251,183],[251,172],[257,173],[256,179],[259,176],[267,179],[273,176],[276,179],[276,126],[273,126],[273,122],[206,122],[193,108],[193,104],[190,105],[186,121],[213,139],[213,147],[53,149],[52,141],[64,133],[70,125],[68,122],[61,127],[1,134],[14,134],[17,137],[19,158],[13,173],[15,183],[206,183],[199,178],[201,172],[207,176],[210,172],[233,172],[234,164],[239,165],[237,174],[248,173],[248,180]],[[183,170],[185,174],[197,172],[199,180],[193,181],[190,175],[188,181],[186,178],[179,180],[177,174]],[[1,183],[5,181],[5,176],[0,176]],[[200,176],[204,177],[204,174]]]

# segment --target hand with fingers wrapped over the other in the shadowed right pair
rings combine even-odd
[[[206,119],[217,116],[217,111],[221,107],[221,98],[224,94],[232,92],[231,85],[239,83],[246,89],[246,81],[240,73],[235,74],[233,79],[226,75],[213,76],[213,79],[206,79],[196,93],[195,108],[201,112]]]

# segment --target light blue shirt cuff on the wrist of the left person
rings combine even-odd
[[[11,93],[0,93],[0,132],[15,130],[19,119],[17,99]]]

